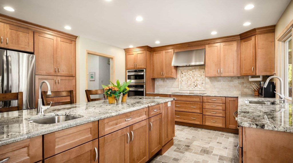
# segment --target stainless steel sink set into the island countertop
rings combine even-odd
[[[65,121],[78,119],[78,118],[79,117],[75,117],[75,116],[51,116],[47,118],[31,120],[30,122],[38,123],[38,124],[54,124],[54,123],[65,122]]]

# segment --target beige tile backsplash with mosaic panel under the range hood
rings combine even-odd
[[[263,81],[266,81],[263,76]],[[156,92],[206,92],[253,95],[248,76],[205,77],[205,66],[178,67],[178,78],[156,78]]]

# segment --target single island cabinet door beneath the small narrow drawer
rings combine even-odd
[[[162,114],[149,118],[149,158],[162,148]]]

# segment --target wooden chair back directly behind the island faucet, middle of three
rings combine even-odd
[[[47,91],[42,91],[42,102],[44,105],[50,105],[50,101],[48,101],[47,98],[54,98],[54,97],[70,97],[70,100],[62,101],[62,102],[52,102],[51,106],[74,104],[73,90],[54,91],[54,92],[51,92],[51,95],[47,95]]]

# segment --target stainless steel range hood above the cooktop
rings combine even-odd
[[[205,49],[175,52],[172,66],[200,66],[205,65]]]

